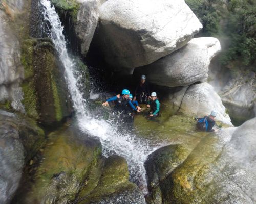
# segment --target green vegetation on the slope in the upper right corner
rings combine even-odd
[[[255,69],[256,2],[253,0],[186,0],[203,29],[200,36],[221,40],[220,61],[228,68]]]

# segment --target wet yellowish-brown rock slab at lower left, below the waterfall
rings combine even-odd
[[[69,203],[101,156],[100,143],[63,127],[49,135],[42,161],[19,203]]]

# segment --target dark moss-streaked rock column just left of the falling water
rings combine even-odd
[[[65,70],[55,56],[49,38],[23,42],[23,104],[29,117],[46,125],[60,122],[72,112]]]

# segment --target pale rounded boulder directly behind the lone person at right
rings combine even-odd
[[[211,85],[203,82],[186,90],[178,112],[203,117],[209,115],[212,110],[218,112],[216,120],[232,125],[220,96]]]

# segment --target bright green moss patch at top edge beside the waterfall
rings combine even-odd
[[[75,22],[80,4],[76,0],[51,0],[59,13],[69,13]]]

